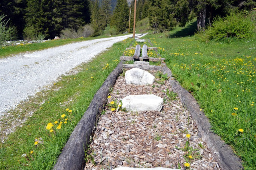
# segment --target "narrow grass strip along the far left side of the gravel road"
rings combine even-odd
[[[122,34],[115,35],[122,36]],[[32,44],[20,44],[15,46],[0,46],[0,59],[6,58],[7,56],[19,54],[22,52],[30,52],[36,50],[44,50],[46,48],[62,46],[65,44],[70,44],[74,42],[81,42],[86,40],[95,40],[99,38],[109,38],[114,36],[97,36],[97,37],[87,37],[87,38],[68,38],[68,39],[60,39],[60,40],[50,40],[42,43],[32,43]]]

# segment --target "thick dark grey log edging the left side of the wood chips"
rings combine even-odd
[[[68,142],[63,148],[53,170],[82,170],[84,169],[84,149],[87,149],[90,136],[94,126],[106,103],[109,89],[114,86],[116,78],[123,70],[123,62],[120,61],[114,71],[108,76],[103,85],[94,95],[90,106],[87,108],[84,116],[76,125],[70,135]]]

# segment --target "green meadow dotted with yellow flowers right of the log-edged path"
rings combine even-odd
[[[168,38],[185,34],[192,25],[144,38],[164,48],[158,52],[210,118],[212,130],[232,146],[246,170],[255,169],[256,34],[231,43],[204,43],[194,36]]]

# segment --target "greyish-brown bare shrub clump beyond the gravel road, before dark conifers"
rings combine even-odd
[[[80,38],[80,37],[88,37],[94,34],[94,29],[90,25],[85,25],[76,31],[73,28],[66,28],[61,31],[60,38]]]

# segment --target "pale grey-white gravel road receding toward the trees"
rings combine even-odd
[[[132,35],[77,42],[0,59],[0,116],[60,75],[128,37]]]

